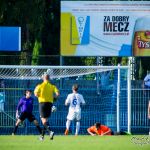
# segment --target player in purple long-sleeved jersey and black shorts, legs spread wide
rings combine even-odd
[[[30,122],[33,122],[37,127],[40,134],[42,134],[42,129],[40,128],[38,121],[35,119],[34,115],[32,114],[33,110],[33,98],[31,97],[31,91],[26,90],[25,96],[22,97],[18,103],[17,110],[16,110],[16,118],[17,122],[14,127],[14,131],[12,135],[15,135],[20,123],[22,123],[25,119],[28,119]],[[19,110],[21,114],[19,115]]]

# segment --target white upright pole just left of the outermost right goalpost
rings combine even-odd
[[[120,64],[118,65],[118,82],[117,82],[117,132],[120,131],[119,101],[120,101]]]

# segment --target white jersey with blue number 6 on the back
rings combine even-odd
[[[69,111],[80,111],[80,104],[85,104],[84,98],[79,93],[71,93],[66,99],[66,104],[70,104]]]

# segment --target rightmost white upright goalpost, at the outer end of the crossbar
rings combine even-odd
[[[128,68],[128,133],[131,133],[131,71]]]

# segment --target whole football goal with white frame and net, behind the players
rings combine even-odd
[[[51,82],[60,90],[54,105],[50,125],[57,134],[65,130],[68,107],[65,99],[73,84],[79,85],[86,101],[82,107],[80,134],[95,122],[109,126],[113,131],[130,132],[130,68],[128,66],[0,66],[0,132],[9,134],[15,125],[15,111],[25,89],[34,91],[42,82],[42,75],[49,74]],[[38,101],[35,98],[33,114],[39,122]],[[28,121],[18,134],[36,134]],[[25,128],[25,130],[24,130]],[[72,133],[75,123],[71,125]]]

